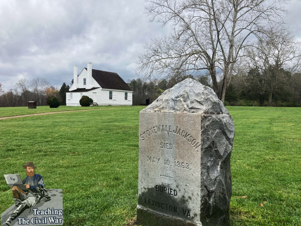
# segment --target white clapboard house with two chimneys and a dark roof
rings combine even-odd
[[[132,89],[116,73],[92,69],[92,63],[78,75],[77,66],[73,70],[73,84],[66,93],[67,106],[80,106],[83,95],[93,99],[98,105],[132,105]]]

